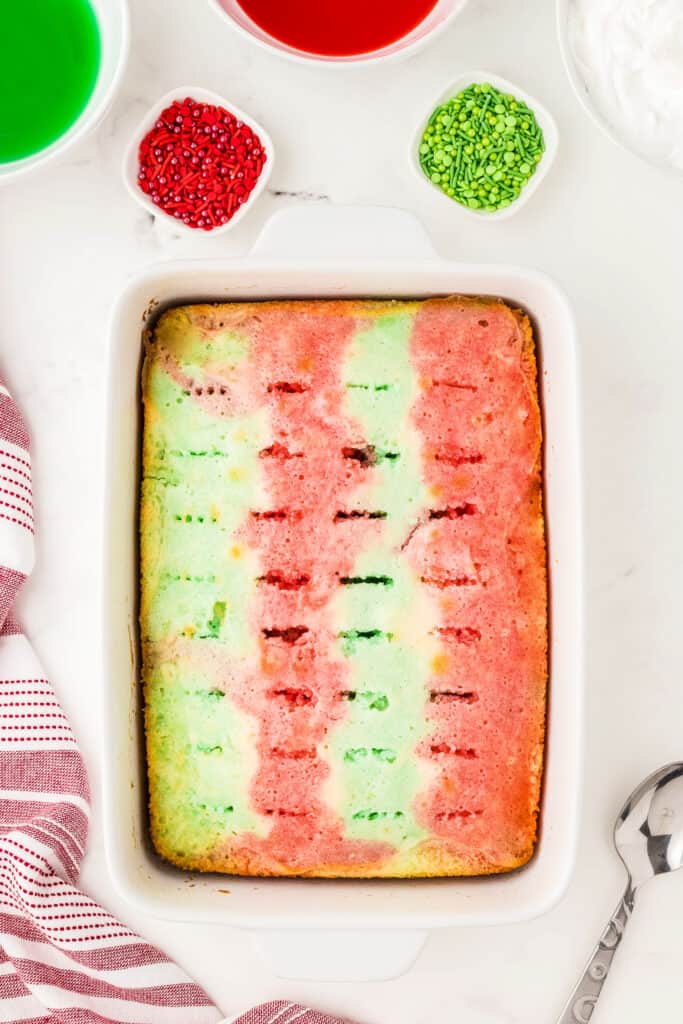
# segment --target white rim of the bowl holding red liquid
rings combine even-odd
[[[247,14],[245,14],[245,20],[249,22],[250,25],[253,26],[253,29],[247,29],[243,25],[240,25],[240,23],[225,10],[220,0],[208,0],[208,2],[209,6],[216,12],[216,14],[223,22],[226,22],[234,32],[242,36],[243,39],[249,39],[262,50],[266,50],[268,53],[276,53],[279,56],[284,57],[287,60],[293,60],[296,63],[309,66],[313,65],[316,68],[325,67],[339,69],[372,67],[373,65],[389,63],[395,60],[402,60],[405,57],[417,53],[432,39],[436,39],[441,35],[454,18],[463,12],[469,3],[469,0],[453,0],[453,10],[450,11],[442,20],[438,22],[433,28],[428,29],[424,33],[420,33],[420,29],[435,12],[436,8],[430,11],[427,17],[425,17],[420,25],[416,26],[412,32],[409,32],[408,35],[395,40],[395,42],[391,43],[389,46],[385,46],[380,50],[370,50],[368,53],[361,53],[354,56],[318,56],[313,53],[307,53],[305,50],[296,49],[295,47],[288,46],[287,43],[282,43],[279,39],[269,36],[263,29],[257,26],[256,23],[252,22]],[[445,0],[441,0],[441,2],[445,2]]]

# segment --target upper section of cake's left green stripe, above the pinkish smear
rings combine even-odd
[[[220,640],[232,655],[244,655],[258,570],[234,531],[263,501],[258,451],[267,436],[264,414],[214,416],[158,365],[147,380],[157,415],[145,425],[144,638]],[[193,437],[201,446],[193,446]],[[225,457],[177,456],[189,447]]]

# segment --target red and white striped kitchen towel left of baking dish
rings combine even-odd
[[[88,778],[11,610],[33,562],[29,435],[0,382],[0,1020],[217,1024],[223,1014],[199,985],[75,887],[88,835]],[[345,1024],[287,1001],[232,1018],[294,1021]]]

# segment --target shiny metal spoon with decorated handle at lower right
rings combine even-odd
[[[636,893],[655,874],[683,866],[683,762],[659,768],[631,794],[614,824],[614,846],[629,883],[558,1024],[587,1024],[591,1019]]]

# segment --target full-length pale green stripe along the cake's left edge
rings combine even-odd
[[[186,350],[173,345],[183,372],[187,360],[208,354],[208,344],[193,334]],[[229,338],[211,344],[218,361],[244,354]],[[258,767],[256,724],[218,684],[226,651],[238,674],[255,653],[247,612],[258,565],[236,531],[263,502],[258,451],[267,428],[263,413],[216,415],[157,361],[146,399],[141,627],[150,788],[160,848],[193,856],[232,835],[264,831],[248,797]]]

